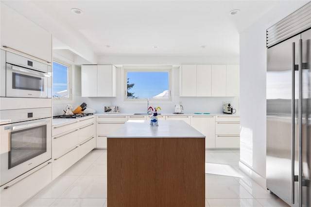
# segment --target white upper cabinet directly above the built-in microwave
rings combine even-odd
[[[1,3],[0,7],[1,48],[7,46],[38,61],[52,63],[52,34],[5,4]]]

